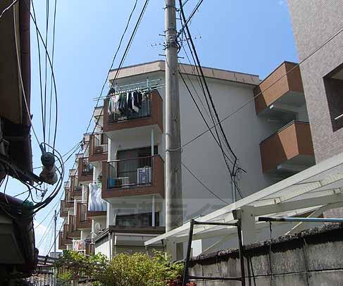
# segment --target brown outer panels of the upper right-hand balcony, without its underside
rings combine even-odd
[[[296,66],[296,63],[282,63],[254,89],[256,113],[260,113],[288,92],[304,93],[300,68]]]

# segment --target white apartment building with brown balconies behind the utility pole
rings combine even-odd
[[[252,101],[223,122],[239,167],[246,172],[237,177],[244,197],[314,164],[301,74],[295,66],[284,62],[263,81],[258,75],[204,68],[220,118]],[[290,69],[291,73],[273,83]],[[186,84],[194,87],[192,92],[201,97],[194,67],[180,64],[180,70]],[[115,75],[116,70],[111,71],[110,82]],[[165,232],[164,78],[164,61],[122,68],[104,106],[96,108],[96,132],[85,135],[89,148],[77,155],[77,171],[70,170],[66,198],[61,202],[66,224],[60,233],[60,249],[71,248],[73,240],[85,240],[85,249],[90,245],[95,253],[111,257],[121,251],[145,251],[146,240]],[[206,130],[206,125],[183,82],[179,85],[185,144]],[[127,92],[141,93],[139,109],[113,112],[113,95]],[[213,197],[183,169],[184,221],[232,202],[230,175],[209,132],[182,149],[182,163],[223,199]],[[194,253],[208,243],[195,242]]]

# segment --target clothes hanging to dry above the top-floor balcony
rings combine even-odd
[[[142,118],[150,115],[150,93],[135,90],[119,94],[110,94],[108,113],[114,120]]]

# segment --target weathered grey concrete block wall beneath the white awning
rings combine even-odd
[[[244,249],[246,285],[343,285],[343,225],[325,225]],[[190,275],[239,277],[238,249],[197,256]],[[198,286],[241,285],[239,281],[197,281]]]

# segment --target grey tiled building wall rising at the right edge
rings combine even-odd
[[[311,5],[288,0],[288,4],[314,154],[320,163],[342,153],[343,147],[343,4],[339,0],[311,1]],[[343,210],[327,215],[342,217]]]

